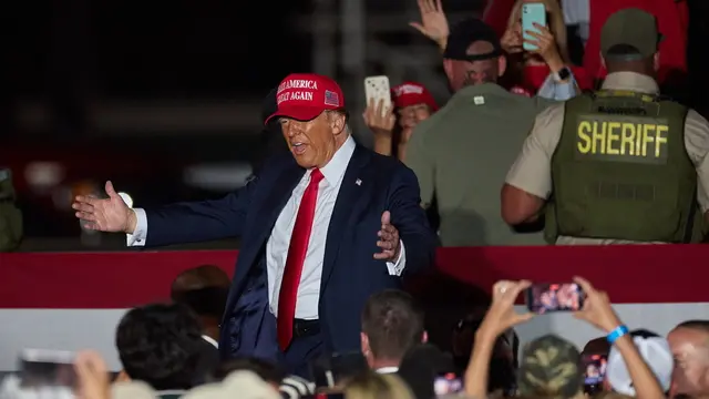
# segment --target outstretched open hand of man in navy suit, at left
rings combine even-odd
[[[115,192],[111,182],[106,182],[105,190],[109,194],[105,200],[84,195],[76,196],[72,205],[76,209],[76,217],[89,229],[132,234],[136,224],[135,213]]]

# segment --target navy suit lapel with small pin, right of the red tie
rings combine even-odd
[[[337,260],[337,254],[340,249],[340,243],[349,231],[353,215],[359,214],[359,208],[364,203],[364,200],[369,197],[364,195],[371,190],[371,186],[368,184],[369,181],[360,177],[366,177],[362,174],[362,168],[370,156],[371,154],[367,149],[357,145],[354,153],[352,153],[352,158],[345,171],[342,184],[335,201],[335,209],[332,209],[332,216],[330,217],[330,225],[328,226],[325,259],[322,262],[322,277],[320,279],[321,287],[325,287],[330,278],[335,262]],[[372,237],[372,239],[376,239],[376,237]]]

